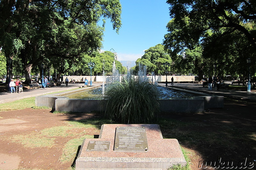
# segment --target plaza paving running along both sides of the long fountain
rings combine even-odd
[[[92,83],[92,86],[98,86],[98,85],[102,85],[102,83]],[[159,84],[159,85],[165,86],[165,84]],[[230,85],[231,85],[231,82],[230,82]],[[168,84],[168,86],[170,86],[170,84]],[[23,93],[11,94],[9,92],[1,92],[0,103],[7,103],[14,100],[41,96],[41,95],[52,93],[52,92],[61,92],[65,90],[71,90],[71,89],[82,88],[82,87],[84,87],[83,83],[68,84],[68,86],[66,86],[65,84],[61,84],[61,86],[56,86],[56,87],[27,89],[27,90],[24,90]],[[240,90],[220,89],[220,91],[217,91],[217,89],[212,88],[212,91],[208,91],[208,86],[203,87],[202,84],[197,84],[197,83],[174,83],[173,87],[194,90],[197,92],[211,93],[211,94],[220,95],[224,97],[251,100],[253,102],[256,102],[256,90],[251,90],[251,92],[246,92],[246,91],[240,91]]]

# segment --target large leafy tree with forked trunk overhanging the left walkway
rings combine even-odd
[[[1,1],[0,8],[6,12],[0,18],[0,21],[3,21],[0,24],[0,30],[3,32],[0,37],[0,45],[3,46],[7,57],[12,58],[13,54],[19,54],[19,57],[22,58],[27,83],[30,82],[30,70],[42,62],[45,57],[61,57],[72,60],[82,53],[89,53],[95,48],[100,48],[101,43],[98,42],[102,40],[102,34],[99,36],[96,23],[101,18],[103,18],[103,23],[106,18],[110,18],[113,29],[116,29],[117,32],[121,27],[121,4],[118,0],[78,0],[76,2],[63,0],[9,2],[4,0]],[[85,28],[86,31],[88,31],[86,28],[93,27],[98,30],[98,33],[93,34],[94,31],[90,33],[92,29],[89,29],[90,31],[87,33],[79,32],[76,29],[78,26],[81,26],[80,30]],[[59,48],[50,54],[49,51],[53,51],[50,48],[58,46],[59,43],[63,44],[62,42],[65,41],[63,36],[60,36],[61,40],[57,36],[65,33],[67,31],[65,28],[76,30],[76,35],[80,34],[81,37],[77,38],[77,50],[74,50],[74,46],[72,46],[73,50],[63,50],[62,46],[62,49]],[[97,43],[94,44],[93,40],[96,40]],[[18,43],[14,46],[13,42]],[[55,46],[52,46],[54,43]],[[83,46],[85,44],[86,46]],[[10,47],[15,47],[15,49]]]

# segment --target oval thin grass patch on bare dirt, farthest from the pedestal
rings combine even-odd
[[[27,148],[51,147],[55,138],[43,137],[40,134],[15,135],[11,139]]]

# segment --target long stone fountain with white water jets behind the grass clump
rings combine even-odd
[[[120,81],[119,72],[116,70],[115,62],[113,63],[113,74],[109,78],[106,78],[106,84],[104,83],[105,76],[103,76],[103,83],[102,83],[102,90],[98,89],[98,93],[101,93],[104,95],[105,91],[105,85],[108,85],[108,83],[113,83],[116,81]],[[103,75],[104,75],[104,69],[103,69]],[[133,75],[131,74],[131,71],[127,73],[127,78],[132,78]],[[146,67],[140,66],[140,71],[138,73],[138,77],[140,81],[148,81],[148,77],[146,76]],[[154,80],[155,78],[155,80]],[[151,78],[151,83],[154,83],[157,85],[156,82],[156,75],[153,73]],[[100,86],[99,86],[100,87]],[[91,87],[95,88],[95,87]],[[98,88],[98,87],[96,87]],[[223,96],[216,96],[212,94],[205,94],[200,92],[192,92],[188,90],[181,90],[174,87],[162,87],[164,89],[172,90],[174,92],[181,91],[186,92],[189,94],[192,94],[194,97],[188,97],[185,96],[183,98],[173,98],[173,97],[164,97],[163,99],[159,99],[160,103],[160,111],[166,112],[166,113],[200,113],[204,112],[207,108],[214,108],[214,107],[223,107]],[[86,88],[86,90],[89,90],[89,88]],[[85,90],[85,91],[86,91]],[[100,106],[98,100],[99,97],[93,96],[93,98],[88,97],[77,97],[76,99],[70,99],[69,97],[64,97],[63,93],[81,93],[84,91],[83,89],[74,90],[72,92],[62,92],[59,94],[53,95],[43,95],[43,96],[37,96],[36,97],[36,106],[46,106],[51,107],[52,109],[55,109],[57,111],[66,111],[66,112],[99,112]],[[176,95],[176,94],[175,94]],[[92,96],[92,93],[90,93],[90,96]]]

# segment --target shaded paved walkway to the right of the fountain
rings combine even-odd
[[[230,83],[231,82],[225,82],[225,83]],[[159,84],[159,85],[164,85],[165,84]],[[170,84],[168,84],[169,86]],[[173,87],[176,88],[182,88],[182,89],[187,89],[187,90],[193,90],[197,92],[204,92],[204,93],[211,93],[215,95],[220,95],[224,97],[231,97],[231,98],[237,98],[237,99],[246,99],[246,100],[251,100],[256,102],[256,90],[251,90],[251,92],[247,91],[241,91],[241,90],[236,90],[236,89],[220,89],[217,91],[214,87],[212,87],[211,91],[208,91],[208,86],[204,86],[201,84],[197,83],[174,83]]]

